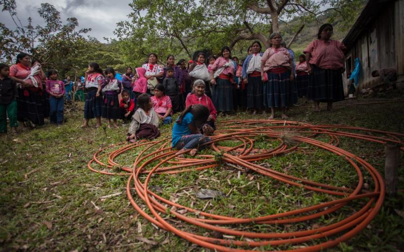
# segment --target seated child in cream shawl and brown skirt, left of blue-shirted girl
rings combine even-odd
[[[153,109],[153,102],[151,102],[148,94],[141,94],[137,98],[139,106],[132,116],[132,122],[129,126],[127,140],[134,143],[137,139],[147,138],[155,139],[160,136],[159,117]]]

